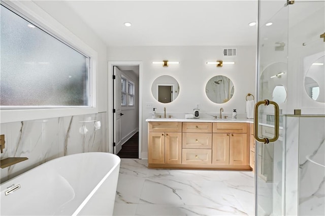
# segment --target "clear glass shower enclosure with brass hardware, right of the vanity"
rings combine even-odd
[[[258,7],[256,215],[325,215],[325,1]]]

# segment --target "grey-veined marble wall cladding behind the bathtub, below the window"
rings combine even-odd
[[[1,158],[28,160],[0,169],[1,183],[54,158],[83,152],[107,152],[107,114],[4,123],[6,148]]]

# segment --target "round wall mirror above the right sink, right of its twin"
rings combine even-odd
[[[225,76],[211,78],[205,86],[205,93],[214,103],[225,103],[234,95],[234,84]]]

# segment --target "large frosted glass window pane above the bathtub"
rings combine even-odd
[[[89,106],[88,62],[1,6],[2,106]]]

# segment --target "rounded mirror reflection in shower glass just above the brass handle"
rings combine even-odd
[[[286,72],[287,64],[285,62],[275,62],[265,67],[260,78],[262,97],[259,99],[270,99],[278,104],[284,103],[287,96]]]

